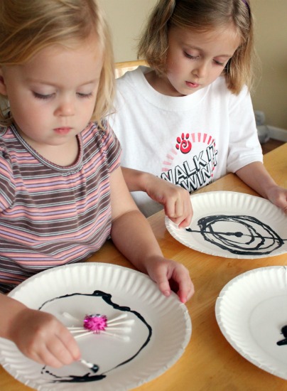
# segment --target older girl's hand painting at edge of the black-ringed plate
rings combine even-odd
[[[153,176],[148,181],[146,193],[163,205],[168,218],[178,227],[188,227],[193,217],[190,193],[181,186]]]

